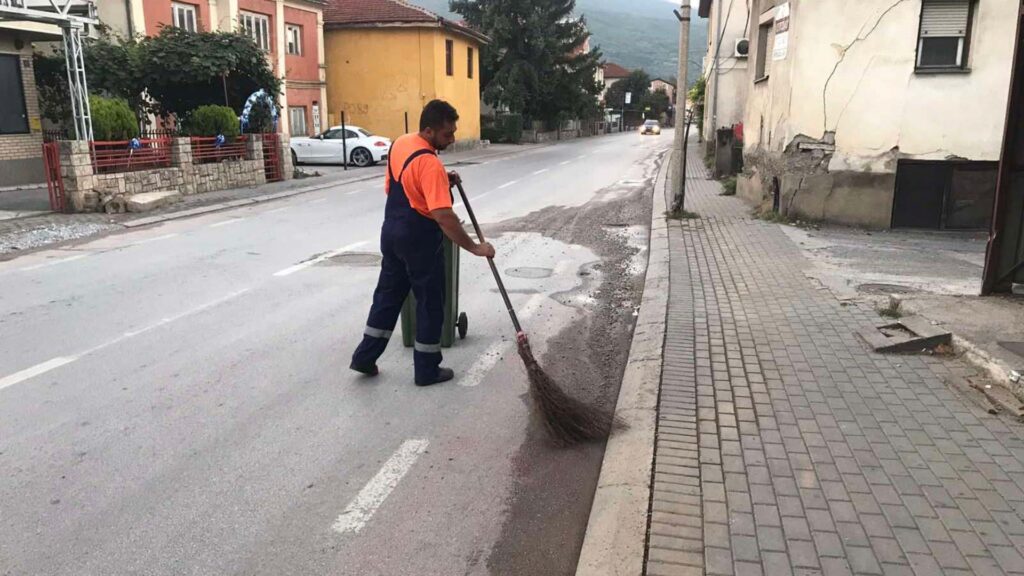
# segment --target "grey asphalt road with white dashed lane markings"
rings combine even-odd
[[[671,132],[459,167],[536,352],[609,405]],[[383,182],[0,262],[0,574],[570,574],[603,446],[532,420],[486,264],[456,381],[347,369]]]

